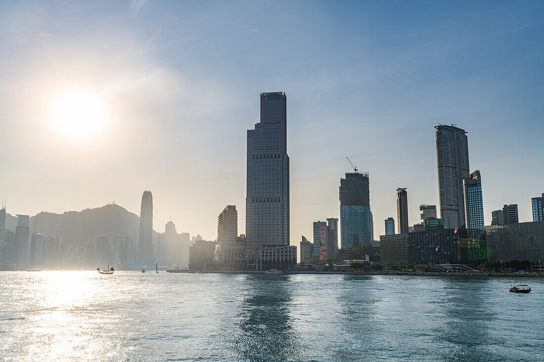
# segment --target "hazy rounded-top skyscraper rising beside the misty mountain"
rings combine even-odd
[[[153,196],[151,191],[144,191],[141,196],[140,238],[138,239],[138,264],[154,265],[153,258]]]

